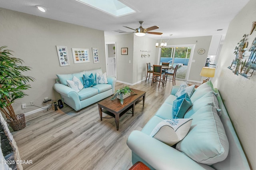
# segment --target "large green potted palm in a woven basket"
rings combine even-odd
[[[23,66],[24,61],[12,57],[13,51],[6,49],[6,46],[0,47],[0,111],[6,116],[6,122],[14,131],[26,127],[24,114],[16,115],[12,104],[14,100],[23,98],[27,94],[24,90],[30,88],[27,84],[31,76],[24,76],[22,72],[30,70],[30,67]]]

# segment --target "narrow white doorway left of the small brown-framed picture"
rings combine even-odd
[[[116,77],[116,42],[106,43],[107,75]]]

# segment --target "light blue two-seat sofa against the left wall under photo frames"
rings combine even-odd
[[[76,111],[94,104],[108,96],[111,96],[115,92],[116,78],[112,76],[107,76],[107,84],[95,84],[92,87],[82,88],[79,92],[68,86],[66,80],[72,80],[76,76],[84,86],[84,75],[93,74],[96,80],[96,72],[100,75],[102,74],[102,69],[86,70],[73,74],[57,74],[58,79],[53,88],[60,94],[64,103],[72,107]]]

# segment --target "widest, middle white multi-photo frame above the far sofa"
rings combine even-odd
[[[90,63],[89,50],[88,49],[74,49],[72,48],[72,54],[74,63]]]

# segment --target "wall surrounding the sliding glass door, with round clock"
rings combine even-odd
[[[195,60],[194,63],[191,64],[190,73],[188,76],[189,81],[194,82],[202,82],[202,76],[200,76],[200,72],[202,70],[202,67],[205,66],[205,62],[207,59],[208,50],[210,47],[212,36],[202,36],[202,37],[187,37],[187,38],[174,38],[170,39],[164,39],[165,42],[168,41],[168,45],[186,45],[186,44],[195,44],[194,49],[194,55],[193,60]],[[160,40],[158,40],[160,42]],[[199,49],[204,49],[204,54],[200,55],[198,54]],[[160,53],[160,51],[159,51]],[[158,50],[156,51],[156,63],[157,63],[157,57],[159,55]]]

